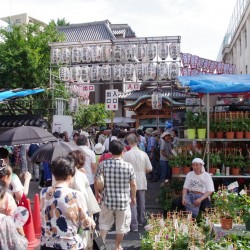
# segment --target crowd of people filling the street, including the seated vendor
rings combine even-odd
[[[0,219],[6,221],[0,225],[9,227],[12,222],[7,223],[7,219],[11,221],[16,204],[28,194],[30,181],[40,181],[41,249],[88,249],[91,230],[86,229],[98,226],[105,242],[108,230],[115,224],[115,250],[122,250],[124,234],[137,232],[138,227],[146,223],[147,181],[164,185],[171,179],[168,161],[178,142],[177,131],[101,127],[96,134],[77,131],[72,140],[67,133],[54,135],[58,140],[78,145],[79,150],[52,162],[38,163],[31,161],[34,153],[31,145],[20,146],[19,155],[26,157],[26,162],[25,157],[20,160],[22,181],[13,173],[9,150],[0,148]],[[38,148],[39,145],[36,149],[33,145],[33,151]],[[187,176],[182,200],[176,206],[182,205],[188,210],[193,209],[190,204],[195,204],[199,210],[201,204],[208,205],[205,202],[214,189],[211,181],[203,183],[204,178],[210,180],[203,166],[201,159],[193,161],[194,171]],[[97,183],[101,176],[103,189],[99,189]],[[196,179],[201,184],[198,185]],[[22,228],[13,230],[12,227],[8,232],[9,238],[18,237],[22,244],[6,249],[22,249],[20,246],[25,249],[27,241]],[[0,246],[6,242],[7,246],[11,244],[6,237],[0,234]]]

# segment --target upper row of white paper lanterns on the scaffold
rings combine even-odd
[[[158,56],[158,57],[157,57]],[[156,58],[176,60],[180,56],[179,43],[138,43],[126,45],[93,45],[51,49],[52,64],[95,62],[152,61]]]

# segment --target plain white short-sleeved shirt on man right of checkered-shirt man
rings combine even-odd
[[[124,154],[123,159],[131,163],[135,170],[137,190],[147,190],[146,171],[152,170],[148,155],[138,147],[132,147]]]

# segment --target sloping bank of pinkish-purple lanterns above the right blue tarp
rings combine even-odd
[[[234,74],[236,67],[233,64],[217,62],[189,53],[181,53],[180,58],[184,68],[184,75],[192,75],[192,72],[195,72],[194,69],[198,70],[198,72],[202,70],[204,74],[206,72],[210,74]]]

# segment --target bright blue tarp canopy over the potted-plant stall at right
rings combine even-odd
[[[188,86],[192,92],[227,94],[250,92],[250,74],[247,75],[197,75],[178,76],[182,86]]]

